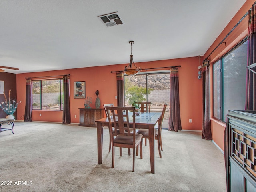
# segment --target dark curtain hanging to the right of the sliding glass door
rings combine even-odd
[[[170,117],[169,131],[182,130],[180,120],[180,94],[179,94],[179,72],[178,68],[171,68],[171,95],[170,95]]]

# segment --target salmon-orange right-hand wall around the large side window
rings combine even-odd
[[[216,48],[216,46],[224,39],[224,37],[232,30],[232,28],[238,23],[240,19],[248,12],[248,10],[252,7],[255,0],[247,0],[244,5],[240,8],[237,14],[232,18],[226,28],[222,31],[222,33],[218,36],[218,38],[214,41],[214,43],[210,46],[207,52],[204,54],[203,59],[208,57],[212,50]],[[242,22],[230,33],[230,35],[224,40],[225,44],[220,44],[218,48],[208,57],[210,60],[210,74],[212,74],[212,64],[222,57],[225,53],[227,53],[230,49],[232,49],[236,44],[238,44],[241,40],[243,40],[248,35],[248,16],[246,16]],[[212,77],[211,77],[211,82]],[[211,89],[212,90],[212,83]],[[225,124],[213,118],[213,91],[211,92],[211,128],[212,128],[212,139],[214,142],[224,151],[224,129]]]

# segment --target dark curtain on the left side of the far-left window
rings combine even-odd
[[[25,114],[24,122],[31,122],[32,117],[32,90],[31,90],[31,78],[26,79],[26,103],[25,103]]]

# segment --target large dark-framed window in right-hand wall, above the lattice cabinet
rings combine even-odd
[[[247,44],[244,40],[213,64],[213,115],[224,122],[228,110],[244,110]]]

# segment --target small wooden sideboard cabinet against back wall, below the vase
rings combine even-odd
[[[95,122],[101,119],[103,116],[104,109],[100,108],[79,108],[80,123],[79,126],[84,127],[97,127]]]

